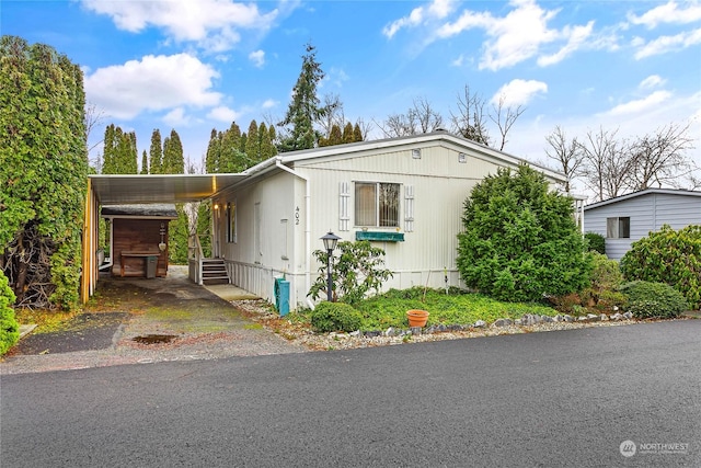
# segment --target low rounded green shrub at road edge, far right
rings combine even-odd
[[[666,283],[634,281],[621,286],[628,296],[625,310],[641,319],[675,318],[687,310],[687,299]]]

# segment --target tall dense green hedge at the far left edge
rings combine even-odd
[[[68,57],[0,38],[0,270],[20,305],[79,300],[84,102],[82,72]]]

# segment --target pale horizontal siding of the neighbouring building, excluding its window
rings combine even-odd
[[[586,210],[585,232],[597,232],[606,237],[606,219],[631,218],[630,239],[606,239],[606,254],[620,260],[631,243],[657,231],[663,225],[681,229],[689,225],[701,225],[701,197],[668,193],[650,193],[621,199]]]

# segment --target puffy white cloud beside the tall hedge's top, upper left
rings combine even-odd
[[[84,84],[91,103],[107,115],[129,119],[145,111],[216,105],[221,100],[211,91],[217,77],[214,68],[188,54],[148,55],[99,68]]]

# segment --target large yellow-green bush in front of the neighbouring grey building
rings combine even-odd
[[[701,226],[674,230],[663,226],[631,244],[621,259],[627,279],[667,283],[693,309],[701,308]]]

